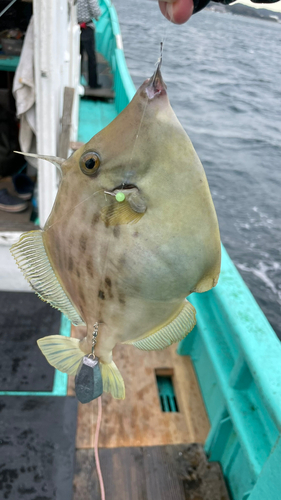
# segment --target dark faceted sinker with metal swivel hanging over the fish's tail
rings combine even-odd
[[[92,352],[84,356],[75,376],[75,392],[80,403],[89,403],[103,393],[99,360],[95,355],[99,324],[94,324]]]

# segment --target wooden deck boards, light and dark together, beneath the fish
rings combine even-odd
[[[73,328],[72,335],[84,332]],[[175,345],[158,352],[119,345],[113,356],[126,399],[102,396],[99,447],[106,498],[227,500],[220,468],[203,452],[209,422],[190,358],[179,356]],[[162,410],[156,375],[171,376],[178,411]],[[69,377],[68,395],[74,394]],[[100,498],[93,449],[97,414],[97,401],[79,403],[73,500],[90,493],[93,500]]]

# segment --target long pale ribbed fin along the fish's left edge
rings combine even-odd
[[[40,299],[59,309],[74,325],[84,322],[61,286],[47,256],[42,231],[23,233],[11,254]]]

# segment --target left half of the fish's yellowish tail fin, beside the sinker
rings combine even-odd
[[[49,335],[37,340],[37,344],[50,365],[68,375],[76,375],[85,353],[81,351],[79,339],[62,335]]]

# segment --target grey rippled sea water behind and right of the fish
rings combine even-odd
[[[281,339],[281,24],[203,11],[183,26],[154,0],[115,0],[136,86],[162,72],[204,165],[222,241]]]

